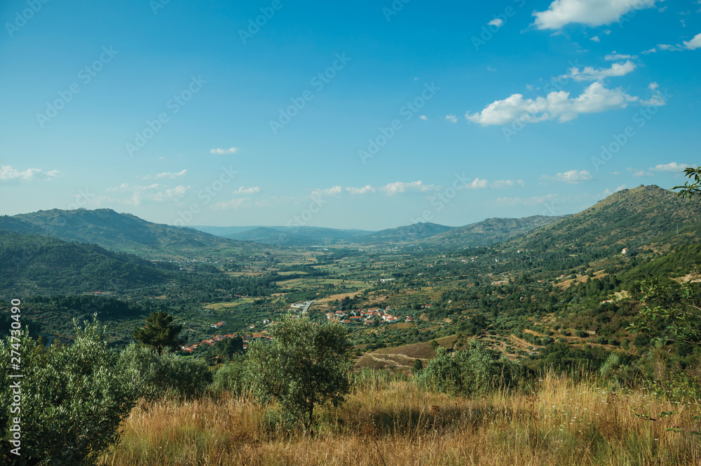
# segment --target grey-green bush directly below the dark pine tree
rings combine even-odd
[[[196,397],[212,381],[212,373],[202,359],[173,353],[159,357],[152,349],[137,344],[129,345],[119,354],[118,368],[130,378],[138,396],[149,401],[165,394]]]

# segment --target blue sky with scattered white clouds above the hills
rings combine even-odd
[[[698,162],[701,2],[404,1],[2,2],[0,213],[465,225]]]

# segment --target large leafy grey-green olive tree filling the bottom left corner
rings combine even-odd
[[[104,342],[104,327],[75,325],[72,345],[29,338],[26,331],[0,340],[0,383],[19,380],[21,411],[13,411],[13,390],[0,392],[0,461],[3,465],[95,465],[118,441],[118,427],[135,404],[135,387],[115,370],[114,354]],[[19,338],[19,340],[16,340]],[[19,346],[19,348],[17,348]],[[21,379],[11,378],[11,350],[22,354]],[[20,456],[11,453],[11,427],[21,432]]]

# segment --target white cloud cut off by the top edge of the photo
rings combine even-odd
[[[602,26],[629,11],[655,6],[655,0],[555,0],[546,11],[533,12],[538,29],[560,29],[571,23]]]

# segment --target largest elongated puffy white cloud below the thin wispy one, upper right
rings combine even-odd
[[[620,88],[608,89],[603,84],[594,82],[576,98],[570,98],[566,91],[552,91],[546,97],[536,99],[524,99],[522,94],[514,94],[492,102],[482,112],[468,112],[465,118],[482,126],[505,125],[513,121],[535,123],[556,118],[562,123],[583,113],[625,108],[628,102],[635,100],[638,98],[628,95]]]

